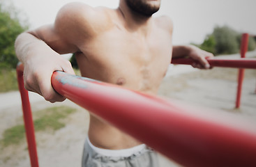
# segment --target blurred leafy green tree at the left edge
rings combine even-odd
[[[27,29],[22,26],[17,17],[13,17],[15,11],[6,11],[0,3],[0,67],[16,67],[14,42],[17,35]]]

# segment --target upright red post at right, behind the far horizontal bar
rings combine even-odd
[[[241,58],[246,57],[246,51],[248,49],[248,38],[249,38],[249,34],[243,33],[242,39],[241,39],[241,48],[240,48]],[[237,86],[237,92],[236,92],[236,109],[240,107],[243,77],[244,77],[244,69],[240,68],[239,76],[238,76],[238,86]]]

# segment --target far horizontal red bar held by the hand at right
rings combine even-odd
[[[250,68],[256,69],[256,58],[236,58],[236,59],[223,59],[223,58],[208,58],[207,61],[212,67],[236,67],[236,68]],[[173,64],[191,65],[198,63],[192,58],[173,58]]]

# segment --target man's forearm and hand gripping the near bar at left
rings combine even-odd
[[[53,90],[50,77],[56,70],[74,74],[69,61],[31,32],[18,36],[15,51],[17,58],[24,64],[24,86],[27,90],[42,95],[50,102],[65,100]]]

